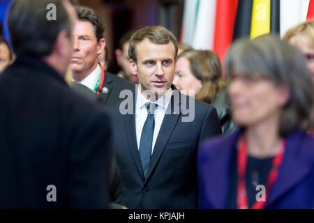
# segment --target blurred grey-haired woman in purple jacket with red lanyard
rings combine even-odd
[[[278,36],[238,40],[227,55],[239,130],[200,146],[200,208],[313,208],[313,85],[299,50]]]

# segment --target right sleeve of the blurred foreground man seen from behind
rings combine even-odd
[[[110,161],[110,120],[103,111],[84,117],[73,127],[69,151],[70,208],[109,208],[107,167]]]

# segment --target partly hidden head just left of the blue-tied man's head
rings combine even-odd
[[[128,31],[122,36],[119,41],[119,49],[116,49],[114,53],[116,54],[117,63],[123,72],[124,79],[127,79],[134,84],[138,83],[137,75],[133,75],[130,66],[128,65],[130,57],[128,57],[128,46],[130,45],[130,38],[135,33],[135,30]]]

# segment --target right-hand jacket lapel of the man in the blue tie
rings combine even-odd
[[[174,89],[174,91],[177,91],[177,89]],[[149,170],[147,172],[147,180],[149,179],[149,176],[151,175],[152,171],[156,167],[156,164],[158,160],[160,159],[160,156],[163,154],[163,150],[165,149],[165,145],[167,144],[168,139],[170,138],[174,127],[177,124],[177,121],[179,120],[179,117],[181,116],[181,109],[179,109],[179,114],[173,114],[174,111],[177,111],[178,107],[180,105],[180,100],[174,101],[174,94],[172,93],[170,104],[167,107],[167,112],[165,114],[165,117],[163,118],[163,123],[161,124],[158,137],[156,139],[155,147],[153,154],[151,155],[151,162],[149,164]],[[145,181],[145,185],[147,184],[147,180]]]

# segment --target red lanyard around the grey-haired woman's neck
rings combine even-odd
[[[278,168],[283,162],[283,153],[285,150],[285,140],[281,141],[281,147],[274,157],[271,171],[269,172],[269,177],[266,185],[266,200],[273,187],[277,177]],[[248,209],[248,194],[246,192],[246,162],[248,159],[247,149],[246,149],[246,139],[242,137],[239,143],[238,151],[238,185],[237,185],[237,208],[238,209]],[[252,209],[262,209],[264,208],[266,201],[255,201]]]

